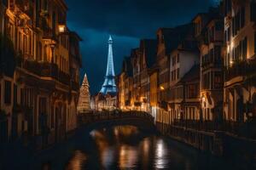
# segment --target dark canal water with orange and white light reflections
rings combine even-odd
[[[132,126],[84,130],[37,154],[19,153],[6,169],[236,169],[236,163]],[[3,160],[3,159],[2,159]],[[8,159],[9,160],[9,159]],[[1,168],[0,168],[1,169]]]

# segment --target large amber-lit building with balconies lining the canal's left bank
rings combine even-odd
[[[15,59],[3,55],[14,65],[0,82],[3,140],[38,136],[42,145],[64,139],[76,127],[79,88],[71,84],[79,84],[81,64],[80,38],[67,28],[67,5],[63,0],[4,2],[4,35]]]

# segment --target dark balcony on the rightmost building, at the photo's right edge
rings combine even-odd
[[[250,77],[255,76],[256,58],[247,59],[247,61],[236,62],[225,71],[225,81],[230,81],[235,77]]]

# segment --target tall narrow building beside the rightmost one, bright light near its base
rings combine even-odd
[[[201,50],[201,111],[204,121],[221,118],[223,109],[223,59],[221,48],[224,38],[224,24],[220,14],[208,21],[204,39],[200,41]]]

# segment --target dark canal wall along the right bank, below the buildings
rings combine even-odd
[[[166,137],[170,137],[184,144],[211,153],[216,156],[237,157],[253,163],[256,167],[256,140],[241,138],[224,131],[202,131],[189,127],[175,126],[156,122],[157,130]]]

